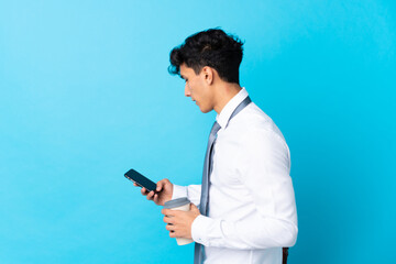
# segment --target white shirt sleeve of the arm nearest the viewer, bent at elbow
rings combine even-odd
[[[245,136],[235,173],[252,195],[257,213],[239,221],[199,216],[191,226],[193,240],[238,250],[293,246],[297,209],[287,144],[273,131],[256,130]]]

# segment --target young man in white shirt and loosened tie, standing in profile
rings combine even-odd
[[[297,239],[290,156],[275,123],[240,86],[243,43],[222,30],[196,33],[170,53],[169,73],[186,81],[200,111],[215,110],[202,185],[157,183],[142,194],[157,205],[188,197],[190,211],[163,209],[170,238],[196,242],[195,263],[282,263]],[[198,207],[200,209],[198,209]]]

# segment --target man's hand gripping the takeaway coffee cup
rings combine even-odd
[[[170,238],[185,238],[191,239],[191,226],[194,220],[200,215],[199,209],[190,204],[189,211],[179,211],[163,209],[161,211],[166,222],[166,229],[169,230]]]

